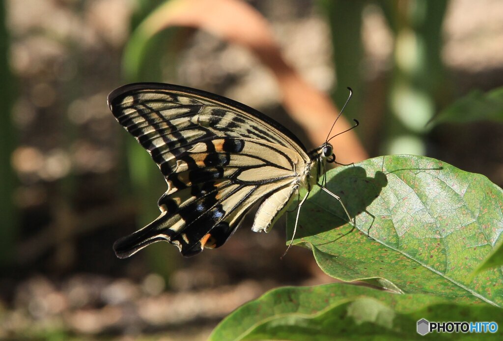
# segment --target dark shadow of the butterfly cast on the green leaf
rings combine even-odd
[[[333,171],[332,171],[333,172]],[[386,175],[376,172],[374,177],[368,177],[360,166],[348,166],[327,181],[327,189],[338,195],[344,203],[355,223],[356,229],[367,231],[370,227],[359,222],[359,215],[367,211],[367,207],[378,198],[381,190],[387,186]],[[341,203],[323,191],[311,195],[301,208],[294,244],[311,239],[312,236],[332,242],[351,232],[357,232],[355,226],[348,222]],[[292,236],[295,212],[287,217],[287,240]],[[372,223],[371,223],[372,224]],[[329,235],[324,232],[330,231]],[[322,235],[322,236],[321,236]],[[317,241],[320,243],[320,240]]]

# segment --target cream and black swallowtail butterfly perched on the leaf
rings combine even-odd
[[[329,132],[325,143],[307,151],[292,132],[257,110],[173,84],[125,85],[110,93],[108,106],[167,183],[157,219],[114,243],[119,258],[156,241],[178,246],[186,257],[222,246],[256,204],[251,229],[268,232],[304,188],[296,229],[300,208],[316,185],[341,202],[351,223],[323,176],[325,162],[335,161],[329,140],[340,133],[329,138]]]

